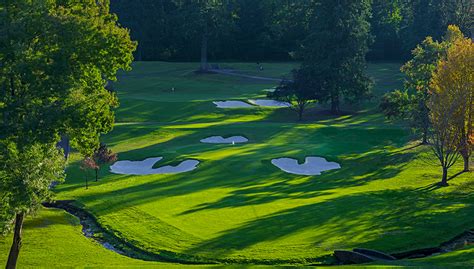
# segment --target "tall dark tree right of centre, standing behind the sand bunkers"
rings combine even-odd
[[[318,81],[319,101],[329,102],[337,114],[342,98],[357,101],[370,93],[371,81],[364,74],[370,1],[318,0],[314,9],[301,68]]]

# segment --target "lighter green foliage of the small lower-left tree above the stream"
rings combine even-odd
[[[0,142],[0,232],[10,228],[15,214],[34,213],[52,197],[50,186],[64,180],[64,156],[54,144],[18,148]]]

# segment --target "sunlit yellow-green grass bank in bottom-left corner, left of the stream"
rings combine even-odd
[[[10,244],[10,236],[7,240],[0,240],[0,264],[6,261]],[[158,267],[160,263],[130,259],[105,249],[85,238],[77,218],[62,210],[43,209],[35,218],[27,219],[19,268],[86,265]]]

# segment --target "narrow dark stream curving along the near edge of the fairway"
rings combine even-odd
[[[147,252],[143,249],[136,247],[135,245],[124,241],[117,237],[112,232],[102,228],[97,222],[97,219],[86,210],[79,208],[74,205],[73,200],[55,201],[52,203],[43,203],[43,206],[47,208],[63,209],[69,214],[79,218],[82,225],[82,232],[87,238],[91,238],[106,249],[114,251],[120,255],[124,255],[134,259],[140,259],[144,261],[160,261],[160,262],[173,262],[181,264],[216,264],[217,261],[206,261],[197,259],[197,257],[189,255],[180,255],[173,252],[162,252],[160,254]],[[466,231],[453,239],[442,243],[438,247],[416,249],[406,251],[402,253],[391,254],[398,260],[401,259],[416,259],[425,258],[429,256],[440,255],[451,251],[462,249],[468,245],[474,244],[474,230]],[[257,262],[257,261],[256,261]],[[258,263],[258,262],[257,262]],[[334,265],[334,264],[326,264]]]

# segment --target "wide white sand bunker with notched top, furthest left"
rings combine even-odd
[[[118,161],[110,166],[110,171],[122,175],[177,174],[192,171],[199,164],[197,160],[186,160],[177,166],[166,165],[153,168],[153,165],[162,159],[162,157],[155,157],[143,161]]]

